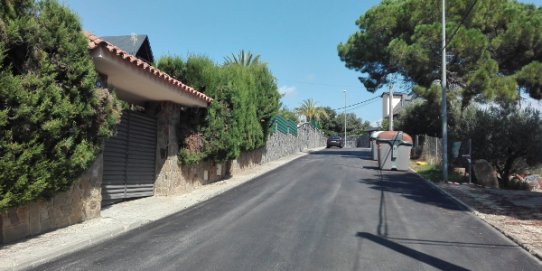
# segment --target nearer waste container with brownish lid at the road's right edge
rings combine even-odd
[[[378,167],[383,170],[408,170],[412,137],[401,131],[386,131],[376,138]]]

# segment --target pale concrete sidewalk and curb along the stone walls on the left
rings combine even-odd
[[[320,148],[313,148],[313,149],[306,149],[306,150],[303,150],[303,151],[300,151],[298,153],[295,153],[295,154],[292,154],[292,155],[289,155],[289,156],[286,156],[286,157],[283,157],[283,158],[280,158],[278,160],[275,160],[275,161],[271,161],[271,162],[268,162],[266,164],[263,164],[263,165],[259,165],[255,168],[259,168],[260,170],[258,170],[257,172],[254,172],[254,173],[251,173],[251,174],[247,174],[247,175],[240,175],[238,176],[237,180],[233,180],[231,181],[232,179],[235,179],[235,177],[233,177],[232,179],[229,179],[229,180],[224,180],[224,181],[219,181],[219,182],[215,182],[213,184],[209,184],[209,185],[220,185],[221,182],[222,184],[227,184],[226,187],[216,187],[214,188],[214,190],[211,188],[209,191],[203,191],[201,192],[202,195],[201,197],[199,197],[198,199],[196,200],[190,200],[188,202],[184,202],[184,203],[179,203],[179,205],[176,205],[175,207],[171,208],[171,209],[168,209],[162,213],[160,213],[159,215],[155,215],[155,216],[152,216],[152,217],[145,217],[145,218],[135,218],[134,220],[132,221],[128,221],[128,223],[126,224],[123,223],[122,219],[116,219],[114,217],[101,217],[101,218],[97,218],[97,219],[111,219],[112,221],[107,223],[107,228],[102,228],[103,230],[99,230],[98,232],[90,232],[90,233],[86,233],[86,236],[85,237],[81,237],[81,235],[85,235],[85,233],[71,233],[71,234],[77,234],[78,235],[78,240],[76,240],[75,238],[69,238],[69,236],[60,236],[58,237],[59,239],[60,238],[66,238],[67,241],[62,244],[61,246],[55,246],[55,247],[51,247],[50,249],[46,250],[46,251],[38,251],[38,253],[35,253],[35,251],[32,251],[33,253],[31,255],[29,254],[23,254],[23,255],[19,255],[19,253],[14,253],[14,254],[17,254],[9,259],[0,259],[0,271],[4,271],[4,270],[23,270],[23,269],[28,269],[28,268],[34,268],[34,267],[37,267],[41,264],[44,264],[44,263],[47,263],[47,262],[50,262],[50,261],[54,261],[58,258],[61,258],[62,256],[66,255],[66,254],[69,254],[69,253],[73,253],[73,252],[76,252],[76,251],[79,251],[79,250],[83,250],[83,249],[86,249],[86,248],[89,248],[91,246],[94,246],[96,244],[99,244],[99,243],[103,243],[105,241],[108,241],[110,239],[113,239],[115,237],[118,237],[119,235],[121,234],[124,234],[124,233],[127,233],[127,232],[130,232],[130,231],[133,231],[133,230],[136,230],[136,229],[139,229],[147,224],[150,224],[150,223],[153,223],[155,221],[158,221],[166,216],[169,216],[169,215],[173,215],[177,212],[180,212],[180,211],[183,211],[183,210],[186,210],[192,206],[195,206],[197,204],[200,204],[202,202],[205,202],[205,201],[208,201],[216,196],[219,196],[239,185],[242,185],[242,184],[245,184],[245,183],[248,183],[272,170],[275,170],[279,167],[282,167],[294,160],[297,160],[301,157],[304,157],[310,153],[313,153],[313,152],[316,152],[316,151],[319,151],[319,150],[322,150],[324,149],[325,147],[320,147]],[[229,182],[228,182],[229,181]],[[198,189],[194,190],[193,192],[198,192]],[[182,196],[182,195],[180,195]],[[168,197],[164,197],[164,198],[168,198]],[[172,199],[173,197],[171,197],[170,199]],[[182,201],[182,200],[179,200],[179,201]],[[98,222],[99,223],[99,222]],[[105,222],[103,222],[105,223]],[[78,225],[78,224],[76,224]],[[70,235],[70,234],[66,234],[66,235]],[[0,249],[1,250],[1,249]],[[9,253],[8,253],[9,254]],[[9,256],[9,255],[8,255]]]

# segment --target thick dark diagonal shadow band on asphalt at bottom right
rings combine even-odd
[[[453,263],[447,262],[445,260],[439,259],[437,257],[419,252],[417,250],[411,249],[409,247],[403,246],[399,243],[393,242],[387,238],[377,236],[368,232],[358,232],[356,234],[357,237],[366,239],[369,241],[372,241],[374,243],[377,243],[379,245],[382,245],[384,247],[387,247],[391,250],[394,250],[396,252],[399,252],[405,256],[411,257],[413,259],[416,259],[418,261],[421,261],[423,263],[426,263],[430,266],[433,266],[435,268],[438,268],[440,270],[469,270],[466,268],[463,268],[459,265],[455,265]]]

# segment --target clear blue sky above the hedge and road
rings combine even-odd
[[[370,93],[337,55],[337,45],[357,28],[358,19],[379,0],[60,0],[97,36],[147,34],[158,60],[224,57],[249,50],[268,63],[290,109],[312,98],[334,109],[380,96]],[[542,0],[521,1],[542,5]],[[338,110],[342,112],[341,110]],[[348,111],[375,124],[381,100]]]

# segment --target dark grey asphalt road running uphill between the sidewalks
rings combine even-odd
[[[542,270],[408,172],[316,152],[36,270]]]

